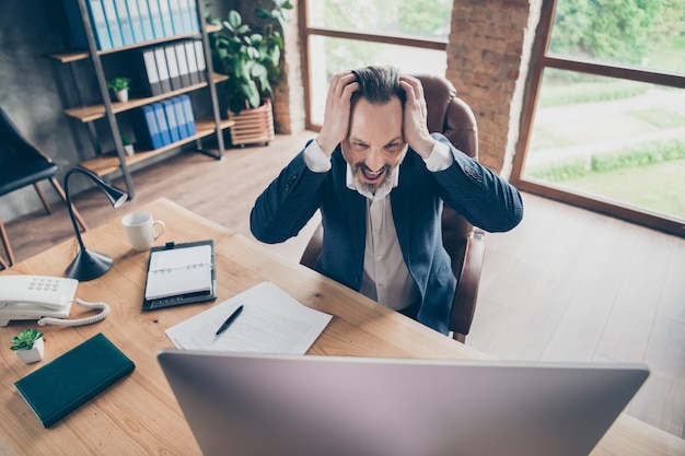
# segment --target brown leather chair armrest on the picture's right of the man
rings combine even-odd
[[[485,260],[485,233],[474,231],[466,242],[464,266],[456,284],[452,315],[450,317],[450,330],[456,340],[464,341],[471,329],[471,324],[476,312],[478,299],[478,285],[480,272]]]

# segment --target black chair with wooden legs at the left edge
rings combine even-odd
[[[4,109],[0,108],[0,197],[22,187],[33,185],[48,213],[51,213],[43,190],[38,183],[49,180],[59,197],[67,202],[65,190],[57,182],[59,166],[47,155],[28,141],[14,126]],[[83,230],[88,230],[81,214],[74,209],[73,213]],[[7,230],[0,220],[0,238],[8,255],[5,262],[0,257],[0,267],[8,268],[14,264],[14,254],[10,246]]]

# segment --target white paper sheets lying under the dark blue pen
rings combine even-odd
[[[243,312],[221,335],[217,329],[237,308]],[[299,303],[271,282],[263,282],[166,329],[179,350],[304,354],[332,316]]]

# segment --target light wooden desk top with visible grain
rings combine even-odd
[[[160,199],[141,210],[166,223],[159,244],[213,238],[216,243],[217,302],[271,281],[294,299],[334,315],[309,353],[357,356],[483,360],[487,356],[414,320],[388,311],[364,296],[290,260],[257,243],[212,223],[177,204]],[[169,454],[197,455],[199,447],[166,383],[156,353],[173,348],[164,329],[214,303],[194,304],[151,313],[141,307],[147,253],[129,248],[117,214],[84,235],[85,244],[114,258],[105,276],[79,284],[77,296],[105,301],[109,316],[95,325],[77,328],[46,326],[43,362],[23,364],[9,350],[9,339],[35,321],[13,321],[0,328],[1,455]],[[62,276],[74,254],[74,242],[55,246],[0,273]],[[71,318],[85,315],[74,305]],[[51,429],[44,429],[16,393],[13,383],[97,332],[103,332],[135,363],[130,377],[82,406]],[[684,455],[685,442],[676,436],[622,416],[592,455]]]

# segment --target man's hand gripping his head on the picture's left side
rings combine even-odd
[[[321,127],[316,142],[321,150],[330,156],[335,148],[347,138],[350,121],[350,101],[359,90],[357,78],[351,71],[338,73],[330,80],[324,125]]]

